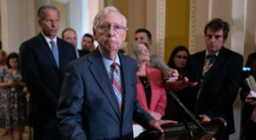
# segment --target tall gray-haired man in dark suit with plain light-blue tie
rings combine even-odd
[[[76,59],[75,48],[56,35],[60,14],[53,6],[38,9],[42,32],[20,45],[20,70],[30,96],[29,121],[34,140],[58,140],[55,110],[67,63]]]

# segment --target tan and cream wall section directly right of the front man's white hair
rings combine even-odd
[[[152,33],[152,48],[151,53],[161,53],[162,49],[158,49],[158,45],[162,44],[156,40],[157,34],[161,31],[158,28],[160,20],[157,20],[157,4],[158,2],[165,2],[165,0],[105,0],[105,6],[113,5],[119,8],[120,12],[125,15],[128,20],[128,28],[125,40],[125,48],[129,46],[131,42],[134,42],[135,31],[138,28],[146,28]],[[165,8],[165,7],[161,7]],[[165,13],[161,13],[165,15]],[[161,35],[161,34],[160,34]],[[127,44],[129,42],[129,44]]]

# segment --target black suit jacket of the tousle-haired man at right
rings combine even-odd
[[[189,57],[185,67],[185,76],[188,76],[189,81],[200,83],[205,58],[206,51]],[[179,95],[184,104],[197,115],[206,114],[211,118],[224,117],[228,123],[228,133],[235,132],[232,104],[238,92],[242,61],[240,54],[222,48],[201,83],[199,99],[196,99],[196,94],[200,84],[196,87],[188,87]],[[196,102],[198,110],[195,110]]]

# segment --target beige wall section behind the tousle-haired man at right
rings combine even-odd
[[[221,18],[230,24],[230,33],[224,46],[241,53],[244,63],[247,55],[255,52],[256,18],[254,0],[191,0],[189,50],[196,53],[205,49],[204,27],[213,18]]]

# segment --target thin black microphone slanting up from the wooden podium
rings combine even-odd
[[[183,103],[179,100],[179,98],[177,98],[176,92],[172,92],[172,91],[168,91],[167,92],[169,95],[171,95],[171,97],[174,99],[174,101],[177,103],[178,107],[180,109],[183,110],[183,112],[189,116],[189,118],[191,120],[193,120],[193,122],[195,123],[196,126],[198,126],[203,132],[208,132],[208,133],[212,133],[214,134],[215,132],[212,132],[212,130],[205,128],[204,126],[201,126],[201,123],[198,122],[198,120],[196,119],[195,115],[189,110],[187,109]]]

